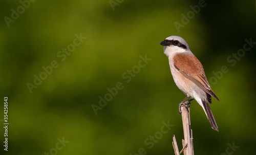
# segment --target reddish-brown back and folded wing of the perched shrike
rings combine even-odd
[[[211,103],[211,97],[218,97],[211,90],[210,85],[204,73],[203,66],[197,57],[193,54],[177,54],[174,57],[174,67],[190,81],[194,82],[205,93],[207,93],[207,99]]]

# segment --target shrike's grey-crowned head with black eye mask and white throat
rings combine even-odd
[[[164,46],[164,54],[169,57],[175,53],[191,52],[187,42],[179,36],[169,36],[160,45]]]

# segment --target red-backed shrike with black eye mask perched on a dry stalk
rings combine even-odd
[[[201,62],[190,51],[187,42],[180,36],[169,36],[161,41],[160,45],[164,46],[164,54],[168,57],[174,82],[187,96],[180,102],[180,105],[183,103],[190,104],[189,101],[195,99],[202,106],[211,128],[219,131],[209,107],[209,104],[212,104],[211,97],[218,101],[219,99],[210,88]],[[188,98],[191,99],[186,101]]]

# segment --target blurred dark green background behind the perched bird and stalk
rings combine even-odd
[[[178,103],[185,95],[159,45],[170,35],[187,41],[220,99],[210,106],[219,132],[191,102],[195,154],[255,152],[255,44],[233,56],[245,39],[256,41],[255,1],[24,2],[24,10],[18,0],[0,2],[0,87],[10,123],[8,152],[2,143],[1,154],[174,154],[173,135],[182,148]],[[193,16],[189,6],[198,3],[204,7]],[[8,27],[5,18],[17,8],[21,14]],[[177,29],[175,21],[182,24],[187,13],[189,21]],[[86,39],[66,59],[59,57],[75,34]],[[145,55],[151,60],[137,67]],[[34,84],[34,75],[44,77],[42,67],[52,61],[58,67],[30,92],[27,83]],[[228,72],[220,73],[224,65]],[[106,95],[117,83],[122,87],[116,95]],[[105,95],[109,101],[96,115],[92,105]],[[4,104],[1,109],[4,142]],[[172,124],[165,134],[162,122]]]

